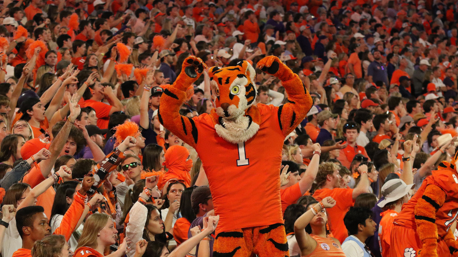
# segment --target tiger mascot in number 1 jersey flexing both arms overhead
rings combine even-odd
[[[189,56],[175,83],[164,90],[158,119],[192,146],[207,175],[220,216],[213,256],[289,256],[280,203],[283,140],[307,115],[312,99],[298,75],[275,56],[257,63],[278,77],[289,103],[255,104],[255,71],[246,61],[209,70],[216,108],[208,115],[181,116],[186,90],[206,65]]]

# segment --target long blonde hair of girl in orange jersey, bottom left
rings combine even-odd
[[[86,222],[84,222],[84,229],[79,237],[78,246],[76,246],[76,248],[83,246],[96,248],[97,236],[109,219],[111,219],[111,217],[104,213],[94,213],[89,216]]]

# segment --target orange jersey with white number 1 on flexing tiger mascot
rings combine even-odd
[[[283,222],[279,174],[284,135],[278,123],[278,107],[257,107],[260,128],[240,144],[218,136],[211,116],[204,113],[193,118],[199,132],[195,150],[204,164],[215,213],[220,217],[216,235]],[[249,197],[240,199],[240,195]]]

